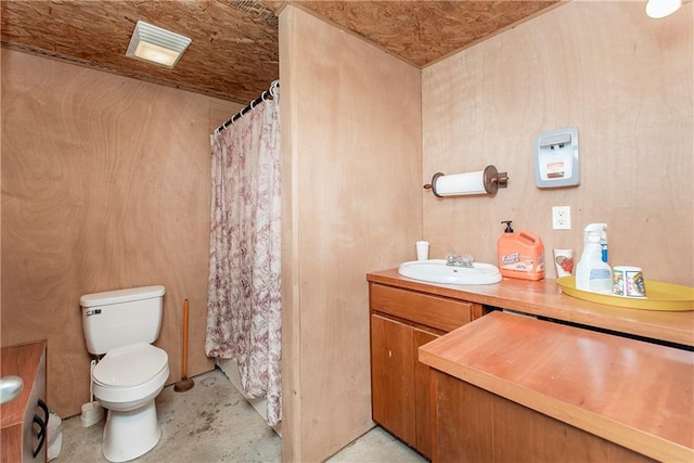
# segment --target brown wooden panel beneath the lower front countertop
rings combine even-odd
[[[440,371],[432,377],[435,463],[654,461]]]

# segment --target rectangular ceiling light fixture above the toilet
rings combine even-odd
[[[191,41],[189,37],[138,21],[126,56],[174,67]]]

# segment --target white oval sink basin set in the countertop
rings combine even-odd
[[[492,284],[501,281],[501,273],[491,263],[473,263],[472,268],[447,266],[445,259],[413,260],[398,269],[402,276],[429,283]]]

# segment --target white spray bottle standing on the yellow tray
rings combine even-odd
[[[576,266],[576,288],[612,294],[612,268],[603,262],[601,234],[607,226],[591,223],[583,230],[583,254]]]

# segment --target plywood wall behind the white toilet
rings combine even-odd
[[[2,50],[2,345],[49,344],[49,404],[89,399],[79,297],[163,284],[157,345],[181,377],[204,335],[209,133],[239,104]]]

